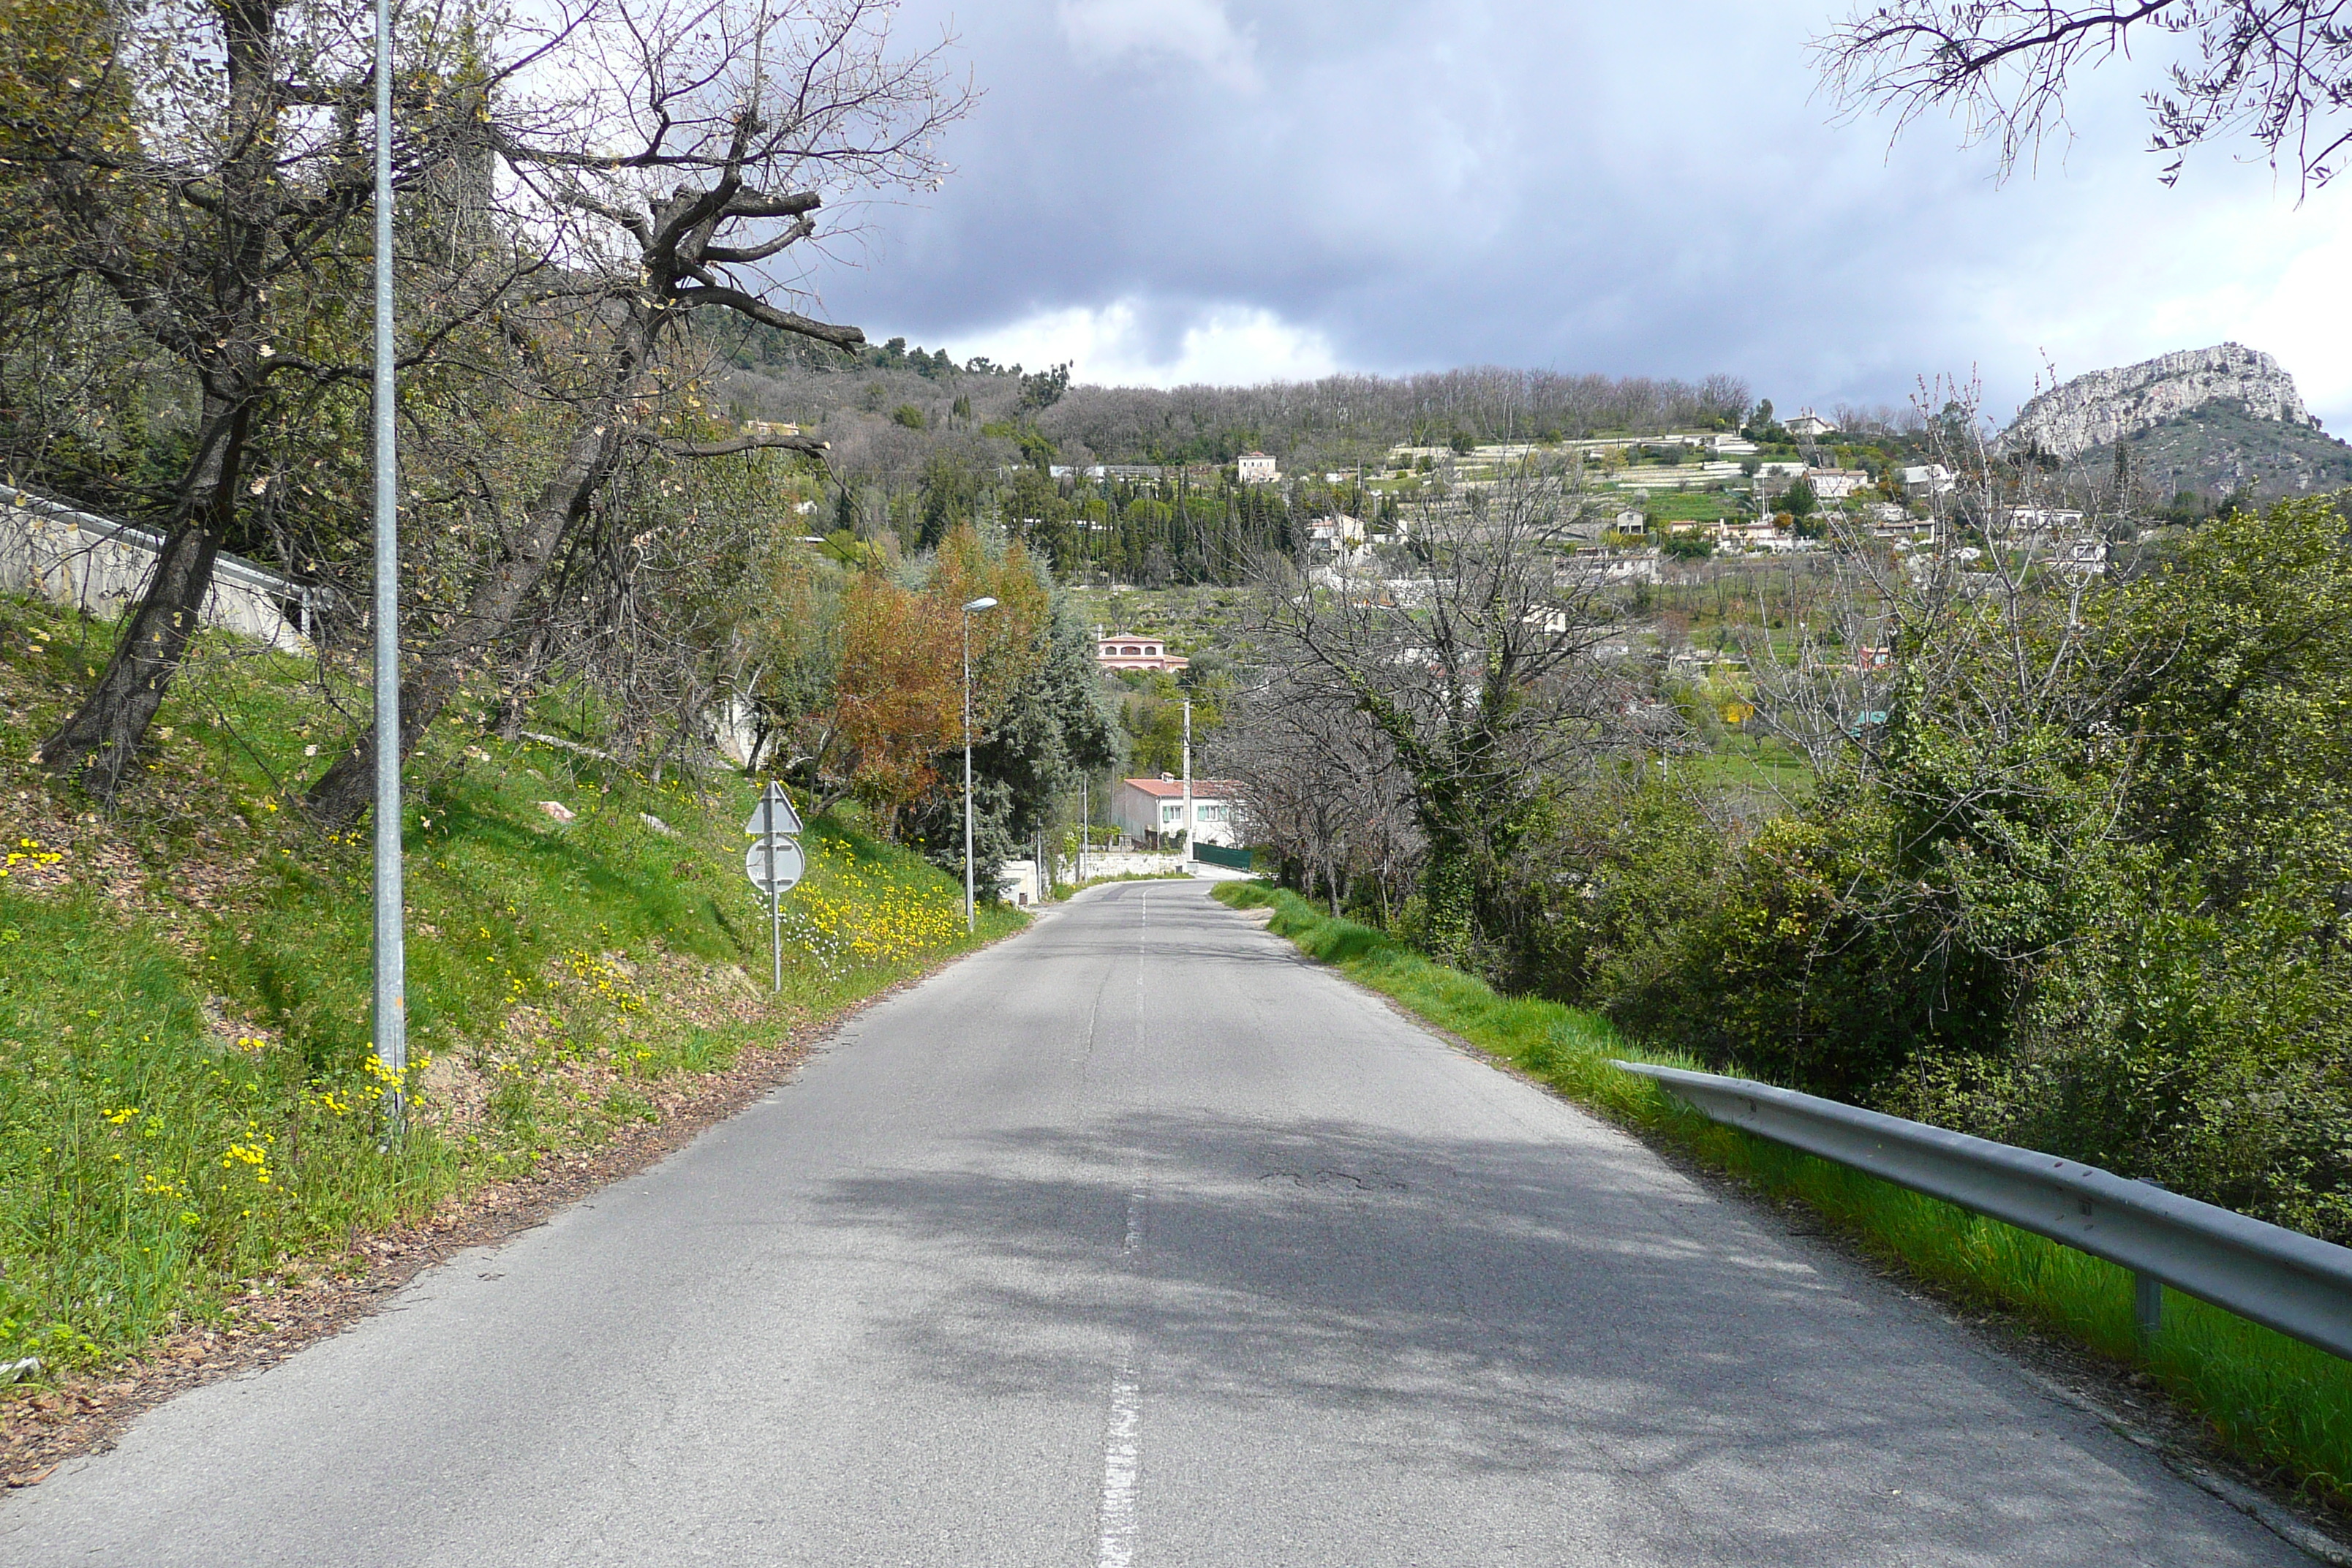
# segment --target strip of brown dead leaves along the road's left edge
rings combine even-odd
[[[1047,905],[1042,912],[1051,912]],[[390,1305],[409,1281],[477,1246],[536,1229],[588,1194],[637,1175],[687,1147],[706,1131],[786,1084],[842,1025],[882,1001],[922,985],[936,973],[1035,931],[1033,917],[1018,931],[906,976],[823,1018],[793,1025],[779,1044],[746,1046],[727,1072],[673,1103],[659,1124],[630,1124],[604,1143],[550,1159],[529,1178],[477,1187],[461,1206],[416,1225],[355,1237],[350,1255],[365,1258],[358,1274],[318,1274],[294,1288],[256,1288],[235,1298],[247,1309],[238,1326],[188,1328],[158,1340],[129,1363],[75,1373],[38,1394],[0,1403],[0,1507],[24,1488],[78,1458],[106,1453],[134,1420],[188,1389],[263,1371],[310,1345],[343,1333]]]

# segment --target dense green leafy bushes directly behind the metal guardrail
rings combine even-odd
[[[1604,997],[1717,1065],[2352,1237],[2352,548],[2328,501],[1978,597]]]

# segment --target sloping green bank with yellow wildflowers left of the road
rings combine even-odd
[[[350,691],[207,635],[106,816],[28,762],[101,656],[96,628],[0,599],[0,1361],[99,1366],[259,1276],[343,1267],[358,1234],[659,1121],[741,1048],[974,940],[948,877],[818,818],[771,994],[755,783],[656,783],[459,715],[412,769],[416,1117],[393,1138],[367,844],[292,795]],[[978,940],[1021,922],[993,907]]]

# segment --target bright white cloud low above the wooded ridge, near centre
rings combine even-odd
[[[1155,343],[1157,339],[1157,343]],[[997,364],[1070,362],[1075,381],[1096,386],[1185,386],[1195,381],[1244,386],[1312,381],[1338,369],[1331,341],[1254,306],[1211,306],[1176,334],[1152,334],[1134,299],[1110,306],[1040,310],[950,343],[957,360],[988,355]]]

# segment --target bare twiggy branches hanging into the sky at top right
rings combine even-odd
[[[2352,146],[2352,7],[2345,0],[1889,0],[1813,40],[1842,106],[1893,110],[1900,132],[1929,110],[1962,118],[1969,143],[1994,141],[2002,172],[2063,132],[2079,71],[2169,40],[2169,87],[2145,94],[2150,150],[2249,139],[2303,190],[2324,186]]]

